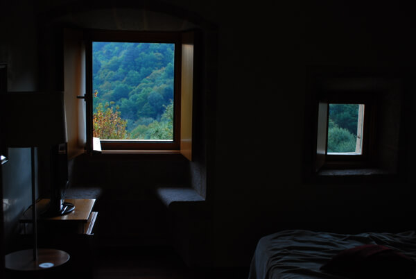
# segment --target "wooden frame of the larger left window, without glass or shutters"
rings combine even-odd
[[[173,141],[152,140],[100,140],[103,151],[179,151],[181,142],[181,68],[182,33],[150,31],[97,31],[86,32],[86,86],[87,146],[93,144],[93,88],[92,42],[144,42],[175,44]]]

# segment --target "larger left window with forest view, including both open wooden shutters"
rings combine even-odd
[[[64,28],[63,41],[71,157],[100,150],[192,160],[200,32]]]

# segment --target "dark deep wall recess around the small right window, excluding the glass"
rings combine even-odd
[[[304,183],[383,183],[405,179],[406,124],[410,119],[408,102],[413,74],[413,69],[408,67],[308,65],[302,162]],[[327,162],[326,146],[320,145],[320,131],[327,130],[327,117],[323,124],[318,121],[322,118],[319,108],[327,108],[328,101],[336,103],[331,96],[337,94],[354,96],[357,103],[368,100],[372,104],[372,142],[368,157],[362,162]],[[327,111],[324,113],[326,115]]]

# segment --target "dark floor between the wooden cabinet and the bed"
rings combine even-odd
[[[111,248],[94,253],[94,279],[239,279],[248,269],[189,268],[171,248]]]

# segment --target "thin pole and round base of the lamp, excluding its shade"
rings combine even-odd
[[[37,248],[37,214],[35,187],[35,148],[31,147],[33,250],[15,251],[6,255],[6,268],[16,271],[35,271],[58,267],[69,260],[67,252]]]

